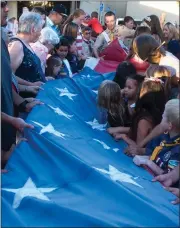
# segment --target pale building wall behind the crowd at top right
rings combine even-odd
[[[102,1],[104,3],[104,13],[115,11],[117,18],[132,16],[135,19],[143,19],[148,15],[155,14],[160,17],[162,12],[166,13],[166,21],[179,24],[179,7],[177,1]],[[100,1],[81,1],[80,8],[88,14],[92,11],[99,12]]]

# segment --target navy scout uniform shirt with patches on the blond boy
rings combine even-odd
[[[162,146],[161,151],[153,160],[165,172],[169,172],[180,162],[180,135],[170,138],[169,134],[162,134],[147,144],[146,155],[151,155],[156,147]],[[175,142],[175,140],[177,140]]]

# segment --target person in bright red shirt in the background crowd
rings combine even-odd
[[[91,13],[91,20],[89,21],[88,26],[92,28],[94,37],[97,37],[99,34],[103,32],[103,27],[98,20],[97,12]]]

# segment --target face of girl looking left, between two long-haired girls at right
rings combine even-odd
[[[124,95],[128,99],[136,99],[138,85],[136,80],[127,79],[124,87]]]

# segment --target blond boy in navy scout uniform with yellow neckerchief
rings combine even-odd
[[[180,162],[180,126],[179,126],[179,99],[172,99],[166,103],[163,120],[168,124],[168,133],[153,139],[146,147],[146,154],[136,155],[133,162],[140,166],[145,165],[155,175],[170,172]]]

